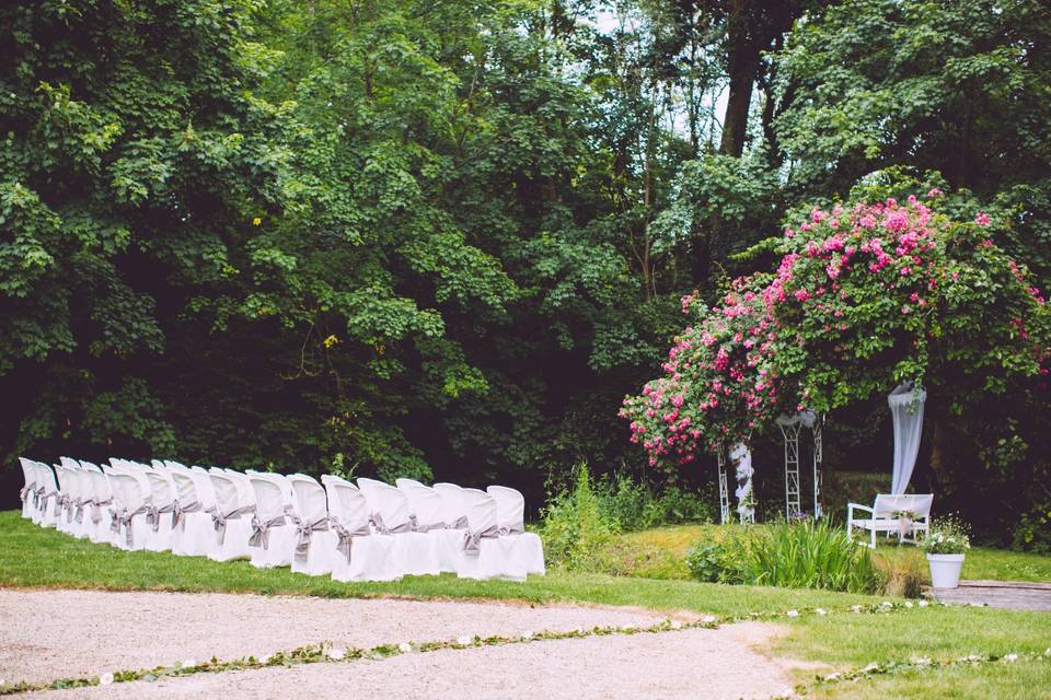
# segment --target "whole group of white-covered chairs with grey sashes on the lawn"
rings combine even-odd
[[[524,581],[545,569],[540,537],[524,532],[524,499],[505,487],[60,462],[53,471],[21,459],[23,517],[120,549],[249,559],[339,581],[442,572]]]

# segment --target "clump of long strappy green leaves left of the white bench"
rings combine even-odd
[[[688,567],[703,581],[875,593],[882,576],[871,553],[828,521],[774,523],[695,547]],[[713,573],[714,572],[714,573]]]

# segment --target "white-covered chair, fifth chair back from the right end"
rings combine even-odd
[[[372,532],[393,535],[391,557],[402,575],[438,575],[441,561],[436,539],[413,530],[412,506],[400,489],[374,479],[358,479],[372,512]]]

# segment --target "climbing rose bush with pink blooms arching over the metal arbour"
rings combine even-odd
[[[1046,389],[1049,314],[1021,262],[994,242],[979,212],[954,221],[924,200],[851,202],[764,247],[774,273],[737,279],[721,304],[682,299],[692,324],[663,375],[624,399],[652,466],[747,440],[782,413],[828,411],[912,380],[952,408],[1019,382]]]

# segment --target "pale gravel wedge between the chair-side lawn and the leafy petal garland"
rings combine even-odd
[[[259,656],[323,641],[371,648],[658,619],[649,612],[568,606],[0,590],[0,678],[90,677],[212,656]]]

